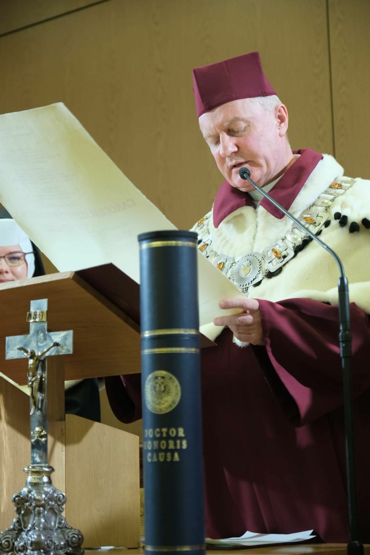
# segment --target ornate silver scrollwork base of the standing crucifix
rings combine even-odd
[[[45,553],[82,555],[82,533],[68,526],[62,516],[67,498],[52,486],[51,466],[30,465],[24,468],[26,487],[13,496],[17,517],[10,528],[0,533],[1,555]]]

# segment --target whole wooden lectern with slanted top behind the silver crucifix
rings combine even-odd
[[[6,336],[28,333],[31,300],[48,299],[49,330],[73,330],[73,354],[48,358],[49,463],[83,547],[139,546],[139,438],[64,413],[64,380],[140,372],[139,286],[115,266],[0,284],[0,530],[29,464],[25,360],[5,360]]]

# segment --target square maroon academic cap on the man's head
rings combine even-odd
[[[250,52],[192,70],[197,117],[240,98],[276,94],[263,73],[260,54]]]

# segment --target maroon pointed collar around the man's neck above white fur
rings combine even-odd
[[[306,183],[308,176],[323,158],[322,154],[310,148],[293,150],[293,154],[300,154],[301,156],[286,170],[285,174],[269,192],[270,196],[277,200],[286,210],[290,208],[293,200]],[[284,214],[271,204],[268,199],[263,198],[260,205],[270,212],[272,216],[275,216],[275,218],[281,220],[284,217]],[[213,207],[213,223],[215,228],[218,228],[229,214],[232,214],[232,212],[235,212],[235,210],[242,206],[253,206],[249,194],[235,189],[235,187],[230,185],[229,181],[224,181],[216,195]]]

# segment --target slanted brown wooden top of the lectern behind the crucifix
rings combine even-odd
[[[98,275],[102,268],[105,282]],[[107,281],[112,300],[105,295]],[[26,362],[5,360],[5,338],[28,334],[31,300],[48,299],[48,330],[73,330],[73,354],[64,356],[65,380],[140,372],[140,326],[134,320],[139,286],[130,290],[133,283],[109,264],[0,284],[0,371],[17,384],[27,383]],[[120,290],[128,300],[119,295]]]

